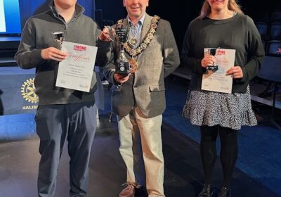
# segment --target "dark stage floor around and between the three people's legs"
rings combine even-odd
[[[202,185],[202,165],[199,146],[169,125],[163,125],[165,158],[164,190],[166,196],[196,196]],[[0,191],[5,197],[37,196],[37,168],[39,139],[0,144]],[[117,123],[108,122],[108,115],[100,117],[93,142],[89,197],[115,197],[126,181],[126,169],[118,151]],[[56,197],[66,197],[69,190],[69,157],[65,148],[58,169]],[[214,185],[221,183],[221,165],[216,163]],[[235,169],[233,196],[277,196],[275,193]]]

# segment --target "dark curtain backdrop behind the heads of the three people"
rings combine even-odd
[[[22,27],[25,25],[27,18],[46,11],[50,2],[51,0],[20,0]],[[181,51],[183,37],[188,24],[199,15],[204,0],[174,0],[168,2],[169,4],[163,0],[150,0],[147,12],[150,15],[156,14],[165,20],[169,20],[176,35],[178,49]],[[95,19],[96,9],[103,10],[103,19],[113,20],[115,23],[120,18],[126,17],[126,9],[123,6],[122,0],[78,0],[78,3],[86,9],[85,14],[93,19]],[[256,0],[240,0],[239,4],[242,6],[242,11],[253,18],[255,22],[258,22],[261,18],[264,20],[272,11],[281,8],[280,0],[268,0],[266,3]]]

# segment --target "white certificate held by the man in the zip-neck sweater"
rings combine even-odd
[[[63,42],[62,51],[67,58],[58,66],[55,86],[89,92],[98,47]]]

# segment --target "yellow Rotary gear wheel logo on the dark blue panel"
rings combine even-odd
[[[38,102],[38,96],[35,94],[34,78],[26,80],[22,84],[21,89],[22,90],[20,92],[22,93],[23,98],[25,98],[25,101],[30,103]]]

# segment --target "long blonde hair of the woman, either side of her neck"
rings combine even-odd
[[[240,14],[243,13],[241,10],[241,6],[237,4],[236,0],[228,1],[228,9],[230,9],[230,11],[235,11],[236,13],[240,13]],[[201,8],[200,15],[197,18],[203,19],[210,13],[211,13],[211,6],[209,5],[209,2],[205,0]]]

